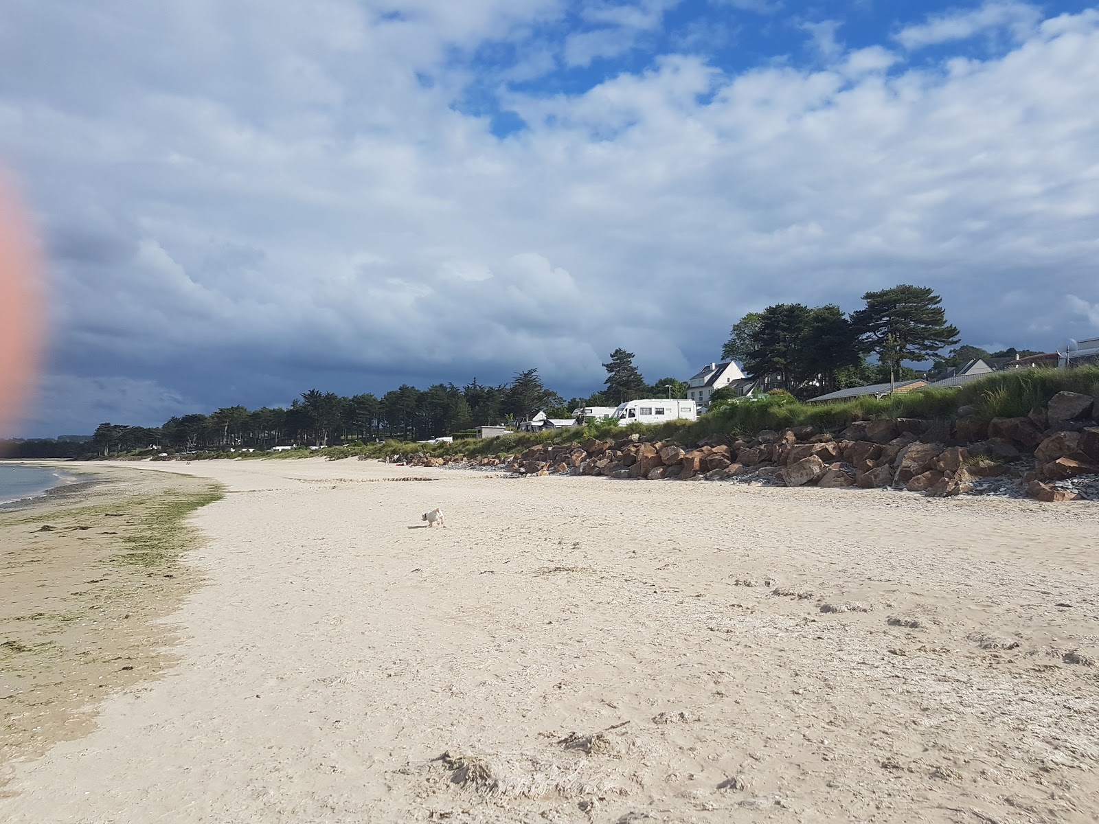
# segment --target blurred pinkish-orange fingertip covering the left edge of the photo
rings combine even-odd
[[[37,377],[42,338],[37,242],[0,169],[0,437],[12,434]]]

